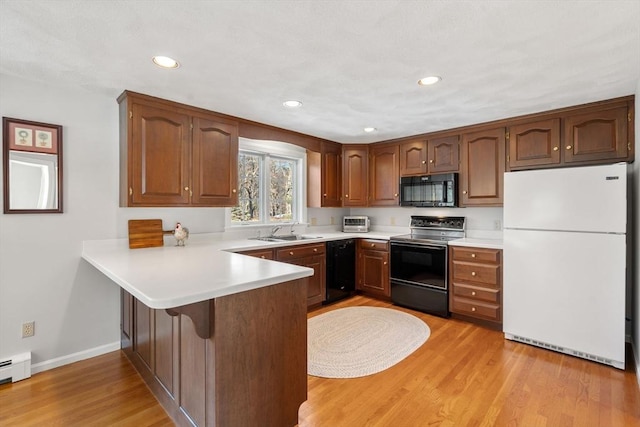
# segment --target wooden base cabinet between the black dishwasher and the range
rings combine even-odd
[[[390,298],[389,242],[360,239],[356,253],[356,289],[374,297]]]

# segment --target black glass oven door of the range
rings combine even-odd
[[[391,242],[391,280],[447,289],[447,246]]]

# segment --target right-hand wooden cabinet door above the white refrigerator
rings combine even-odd
[[[564,161],[626,159],[627,107],[576,114],[564,119]]]

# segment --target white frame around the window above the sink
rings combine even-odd
[[[293,221],[268,222],[268,194],[261,194],[260,211],[263,213],[263,221],[239,223],[231,221],[231,208],[225,208],[225,229],[273,227],[275,225],[306,224],[307,222],[307,150],[297,145],[282,141],[255,140],[239,138],[239,150],[260,156],[297,160],[298,167],[294,171],[294,194],[291,206]],[[263,158],[263,159],[264,159]],[[261,170],[266,171],[266,163],[261,165]],[[267,188],[266,174],[261,174],[261,191]],[[266,196],[266,197],[265,197]]]

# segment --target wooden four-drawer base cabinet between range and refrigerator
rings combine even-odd
[[[449,307],[452,313],[502,324],[502,251],[449,247]]]

